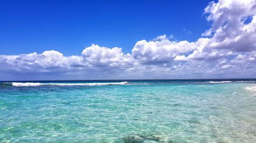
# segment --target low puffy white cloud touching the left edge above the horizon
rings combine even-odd
[[[20,55],[1,55],[2,70],[15,70],[25,72],[52,72],[58,69],[70,67],[70,61],[75,62],[76,56],[66,57],[58,51],[44,51]],[[68,70],[68,69],[67,69]]]

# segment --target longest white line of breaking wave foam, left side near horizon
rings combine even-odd
[[[127,81],[123,82],[98,82],[98,83],[39,83],[39,82],[12,82],[15,87],[36,87],[39,85],[60,85],[60,86],[97,86],[97,85],[122,85],[127,84]]]

